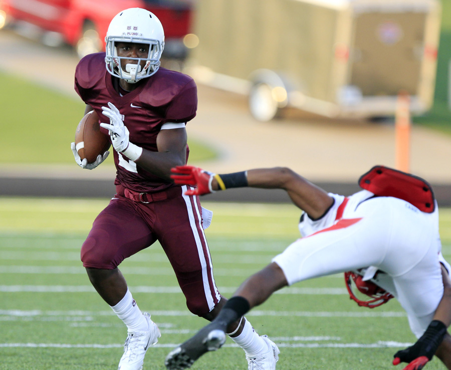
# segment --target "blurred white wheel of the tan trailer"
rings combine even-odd
[[[259,121],[270,121],[280,115],[279,103],[274,99],[273,87],[268,83],[255,83],[249,92],[249,108]]]

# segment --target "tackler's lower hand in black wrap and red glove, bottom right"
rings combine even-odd
[[[395,353],[393,365],[409,362],[403,370],[421,370],[431,360],[445,333],[446,326],[443,322],[433,320],[415,344]]]

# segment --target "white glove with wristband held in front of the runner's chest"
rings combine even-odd
[[[110,118],[110,124],[100,123],[100,126],[110,132],[111,142],[116,151],[123,153],[131,160],[136,160],[141,156],[142,148],[129,141],[128,128],[122,121],[119,109],[113,103],[108,102],[108,107],[102,106],[103,114]]]

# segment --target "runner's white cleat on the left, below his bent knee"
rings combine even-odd
[[[146,331],[128,332],[118,370],[141,370],[147,349],[150,345],[157,343],[161,336],[160,329],[150,319],[150,314],[144,312],[143,315],[149,328]]]

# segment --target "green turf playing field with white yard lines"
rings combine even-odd
[[[94,292],[80,245],[106,200],[0,197],[0,370],[115,369],[126,329]],[[214,212],[206,230],[215,279],[225,296],[298,237],[291,205],[204,204]],[[445,257],[451,258],[451,210],[440,213]],[[144,370],[164,370],[166,354],[205,324],[191,315],[159,245],[121,269],[139,306],[162,336]],[[248,318],[281,349],[278,369],[391,369],[393,353],[414,341],[399,304],[361,308],[342,275],[318,278],[274,294]],[[399,366],[398,366],[399,367]],[[193,369],[247,368],[228,339]],[[438,360],[426,367],[441,369]]]

